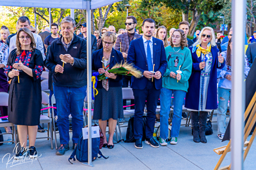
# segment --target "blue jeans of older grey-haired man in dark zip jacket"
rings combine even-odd
[[[53,85],[53,90],[57,106],[60,143],[65,145],[69,142],[68,115],[70,114],[72,116],[72,141],[77,143],[83,128],[83,103],[86,86],[76,88]]]

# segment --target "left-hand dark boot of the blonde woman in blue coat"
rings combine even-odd
[[[193,128],[193,141],[195,143],[199,143],[200,138],[199,138],[199,124],[198,124],[199,115],[198,115],[198,111],[191,111],[190,117],[191,117],[191,124],[192,124],[192,128]]]

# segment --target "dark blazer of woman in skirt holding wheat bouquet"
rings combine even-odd
[[[102,57],[103,57],[103,48],[93,52],[92,54],[92,72],[98,72],[98,69],[102,68]],[[121,52],[112,48],[109,69],[115,66],[116,63],[124,63],[124,57]],[[121,87],[123,85],[122,81],[123,76],[117,75],[116,79],[109,78],[109,87]],[[97,89],[102,89],[102,81],[98,81]]]

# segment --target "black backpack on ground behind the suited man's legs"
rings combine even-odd
[[[143,116],[143,137],[142,141],[146,139],[146,120],[147,117]],[[136,140],[134,139],[134,117],[131,117],[128,121],[128,127],[126,132],[126,140],[125,143],[134,143]]]

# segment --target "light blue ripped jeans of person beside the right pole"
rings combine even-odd
[[[228,100],[230,101],[230,93],[230,89],[223,89],[218,87],[218,134],[225,134],[226,131],[226,113],[228,110]]]

